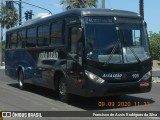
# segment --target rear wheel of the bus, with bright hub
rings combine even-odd
[[[24,74],[22,70],[20,70],[18,73],[18,85],[21,90],[24,90],[25,84],[24,84]]]

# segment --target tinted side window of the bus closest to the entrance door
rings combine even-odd
[[[51,45],[61,45],[62,41],[62,22],[53,23],[51,29]]]

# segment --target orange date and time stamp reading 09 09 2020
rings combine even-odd
[[[150,102],[98,102],[99,107],[130,107],[130,106],[150,106]]]

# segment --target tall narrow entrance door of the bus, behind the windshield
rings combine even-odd
[[[78,27],[68,28],[68,57],[67,74],[70,78],[70,85],[76,86],[79,74],[82,73],[82,46],[81,31]]]

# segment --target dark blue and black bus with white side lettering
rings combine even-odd
[[[147,24],[135,12],[73,9],[6,32],[5,73],[19,88],[53,89],[63,102],[149,92]]]

